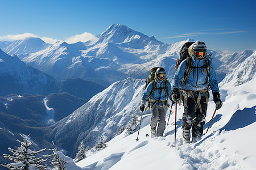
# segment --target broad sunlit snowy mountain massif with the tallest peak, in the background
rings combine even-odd
[[[181,46],[186,41],[193,41],[188,39],[166,44],[154,36],[148,37],[121,24],[110,25],[97,38],[94,42],[67,44],[59,41],[53,45],[43,44],[43,48],[38,45],[37,49],[41,50],[28,53],[25,49],[16,54],[28,65],[56,79],[81,78],[109,86],[130,76],[145,78],[154,66],[165,67],[168,77],[172,77]],[[6,46],[6,43],[2,44]],[[10,51],[14,51],[11,45],[6,46],[5,52]],[[217,52],[215,54],[220,56]],[[214,58],[213,62],[216,62],[217,67],[222,65],[218,58]],[[221,71],[218,77],[224,78]]]

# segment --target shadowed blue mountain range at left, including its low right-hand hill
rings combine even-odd
[[[90,99],[104,90],[101,84],[82,79],[56,80],[51,75],[28,66],[17,56],[9,56],[0,49],[0,96],[10,94],[49,95],[68,92],[82,99]]]

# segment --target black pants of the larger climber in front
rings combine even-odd
[[[197,101],[197,97],[195,97]],[[191,130],[192,137],[201,137],[204,130],[205,117],[207,113],[207,102],[205,96],[201,96],[200,104],[202,107],[202,113],[200,109],[196,107],[195,101],[192,97],[188,97],[187,107],[184,107],[184,113],[182,117],[182,128],[184,130]]]

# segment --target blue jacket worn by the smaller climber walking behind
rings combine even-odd
[[[155,80],[156,80],[156,88],[164,87],[164,80],[162,80],[162,81],[159,81],[157,79],[155,79]],[[147,85],[147,88],[144,91],[144,94],[142,96],[142,103],[146,102],[151,89],[152,89],[152,82],[150,82]],[[155,92],[153,92],[153,94],[151,95],[151,98],[154,100],[161,100],[161,101],[166,100],[167,97],[169,97],[169,99],[171,99],[171,95],[172,95],[171,89],[172,89],[171,83],[169,81],[167,81],[167,95],[168,96],[166,96],[166,92],[164,91],[164,88],[162,88],[162,89],[156,89]],[[162,105],[162,103],[157,103],[157,104]]]

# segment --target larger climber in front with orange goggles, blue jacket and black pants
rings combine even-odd
[[[207,46],[203,41],[196,41],[188,48],[190,57],[184,59],[172,81],[172,100],[179,103],[183,91],[184,113],[182,117],[183,143],[199,141],[203,134],[208,87],[212,90],[216,109],[222,107],[220,91],[213,64],[207,57]]]

